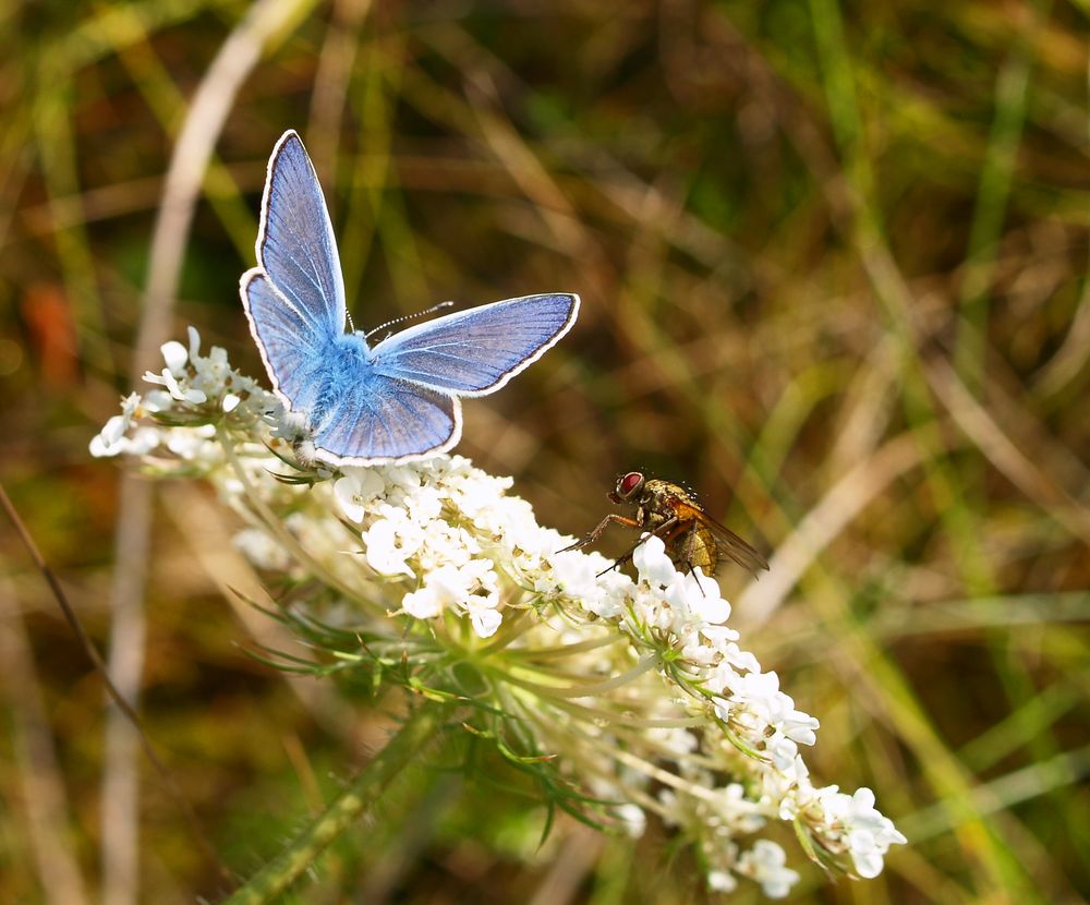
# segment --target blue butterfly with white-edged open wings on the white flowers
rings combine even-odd
[[[240,292],[284,407],[330,464],[425,459],[462,431],[459,396],[494,393],[576,322],[579,297],[525,295],[448,314],[371,348],[344,331],[337,242],[318,177],[294,131],[269,158],[257,266]]]

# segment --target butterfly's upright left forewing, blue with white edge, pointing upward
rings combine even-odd
[[[344,282],[317,173],[294,130],[269,158],[257,233],[257,266],[320,336],[344,329]]]

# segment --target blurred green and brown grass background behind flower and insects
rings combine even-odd
[[[876,881],[811,868],[796,901],[1085,901],[1088,26],[1086,0],[13,0],[3,484],[106,648],[121,478],[87,442],[162,293],[146,346],[192,323],[264,376],[237,281],[296,128],[358,325],[582,295],[560,346],[467,405],[460,452],[568,532],[642,468],[772,552],[752,587],[720,575],[743,642],[821,719],[815,781],[873,787],[910,840]],[[153,257],[186,162],[192,227]],[[246,580],[229,529],[198,488],[157,493],[146,640],[113,631],[146,650],[149,734],[247,873],[385,724],[246,656],[268,627],[221,593]],[[98,901],[102,684],[8,528],[0,554],[0,900]],[[216,898],[137,768],[140,882],[108,901]],[[562,824],[538,848],[541,825],[419,771],[292,901],[702,901],[661,828],[633,847]]]

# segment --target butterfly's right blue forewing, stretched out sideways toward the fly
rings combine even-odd
[[[579,297],[524,295],[417,324],[371,351],[377,373],[459,396],[483,396],[554,346],[576,322]]]

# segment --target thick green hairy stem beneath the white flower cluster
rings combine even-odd
[[[223,905],[269,902],[306,871],[337,836],[378,800],[386,787],[446,720],[447,707],[427,702],[405,721],[386,747],[315,820],[279,855],[257,871]]]

